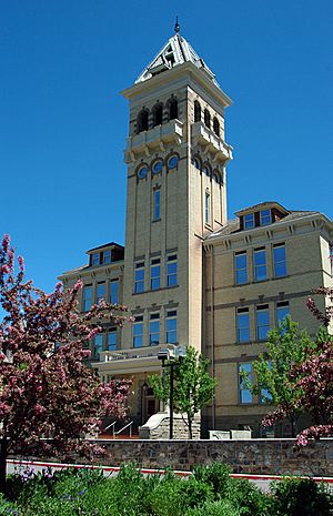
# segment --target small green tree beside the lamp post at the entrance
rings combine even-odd
[[[215,392],[216,381],[210,376],[209,366],[210,360],[189,346],[185,356],[174,367],[173,408],[175,413],[185,415],[190,438],[195,414],[212,399]],[[149,383],[154,395],[167,403],[170,398],[170,367],[164,368],[163,376],[150,376]]]

